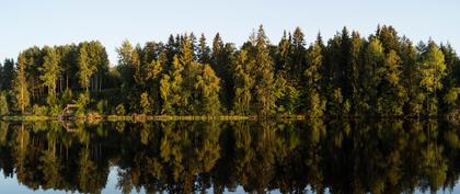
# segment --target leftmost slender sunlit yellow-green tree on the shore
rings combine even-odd
[[[18,70],[13,80],[13,100],[14,107],[24,114],[25,109],[30,104],[30,96],[27,90],[27,80],[25,78],[25,58],[20,54],[18,58]]]

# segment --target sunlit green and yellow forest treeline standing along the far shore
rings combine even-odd
[[[368,37],[344,27],[307,45],[297,27],[271,44],[263,27],[237,48],[216,34],[117,49],[100,42],[32,47],[1,68],[1,114],[435,116],[458,109],[460,58],[453,48],[412,43],[392,26]],[[14,66],[15,64],[15,66]],[[10,103],[11,102],[11,103]],[[8,104],[12,104],[9,109]]]

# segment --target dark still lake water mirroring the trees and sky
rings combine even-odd
[[[459,126],[0,123],[0,193],[460,193]]]

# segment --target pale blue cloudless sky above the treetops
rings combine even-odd
[[[260,24],[272,43],[300,26],[310,43],[343,26],[364,36],[393,25],[412,41],[449,42],[460,49],[459,0],[4,0],[0,3],[0,60],[30,46],[99,39],[112,64],[124,39],[165,42],[171,33],[220,32],[240,46]]]

